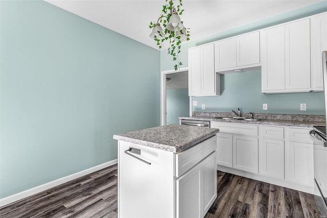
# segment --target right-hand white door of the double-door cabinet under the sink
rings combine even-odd
[[[258,138],[233,136],[233,168],[258,173]]]

